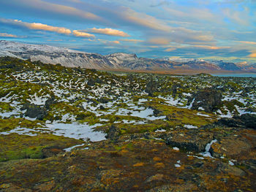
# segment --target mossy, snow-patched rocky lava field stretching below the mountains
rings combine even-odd
[[[256,78],[10,57],[0,76],[0,191],[255,191]]]

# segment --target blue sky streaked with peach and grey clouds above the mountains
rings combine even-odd
[[[256,64],[256,0],[0,0],[0,39]]]

